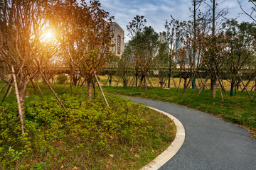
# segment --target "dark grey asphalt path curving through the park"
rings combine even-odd
[[[250,132],[208,113],[161,101],[132,98],[174,115],[183,124],[186,139],[164,169],[256,169],[256,141]]]

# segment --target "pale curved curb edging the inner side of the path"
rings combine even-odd
[[[154,111],[158,111],[160,113],[163,113],[164,115],[167,115],[171,120],[174,120],[174,123],[176,125],[176,137],[174,141],[171,143],[171,145],[162,152],[158,157],[156,157],[153,161],[149,162],[149,164],[146,164],[142,167],[140,170],[157,170],[161,166],[163,166],[166,162],[168,162],[174,155],[178,152],[178,150],[183,145],[183,142],[185,141],[185,129],[182,125],[182,123],[175,118],[173,115],[170,115],[169,113],[166,113],[164,111],[160,111],[157,108],[152,108],[147,106],[148,108],[151,108]]]

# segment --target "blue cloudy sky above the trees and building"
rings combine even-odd
[[[210,2],[210,0],[206,0]],[[217,2],[223,0],[216,0]],[[240,0],[246,11],[251,11],[251,6],[248,0]],[[127,36],[127,25],[132,21],[134,16],[145,16],[146,26],[151,26],[159,33],[165,30],[164,23],[171,21],[171,15],[179,21],[188,21],[189,8],[192,7],[191,0],[100,0],[102,8],[110,12],[110,16],[114,16],[114,21],[124,29],[125,42],[130,38]],[[206,11],[206,5],[203,5],[201,11]],[[242,13],[237,0],[225,0],[218,8],[229,8],[227,18],[236,18],[238,21],[252,20]]]

